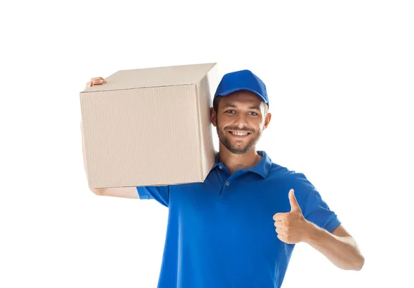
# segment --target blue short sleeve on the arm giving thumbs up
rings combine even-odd
[[[328,207],[328,204],[326,204],[322,196],[304,174],[297,173],[296,176],[295,182],[297,187],[300,188],[299,192],[301,192],[301,199],[297,199],[299,200],[302,214],[306,220],[315,223],[328,232],[333,232],[341,224],[337,218],[337,214]]]

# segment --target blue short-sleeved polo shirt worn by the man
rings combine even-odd
[[[295,245],[277,238],[273,215],[290,212],[292,188],[307,220],[328,232],[340,224],[304,174],[257,153],[233,175],[217,153],[204,183],[137,187],[169,210],[159,288],[279,288]]]

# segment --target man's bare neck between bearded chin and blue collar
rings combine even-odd
[[[228,168],[230,174],[233,174],[239,169],[248,169],[255,167],[255,165],[257,165],[261,159],[262,156],[257,154],[255,147],[253,147],[252,150],[245,154],[233,154],[228,151],[226,147],[221,147],[220,145],[219,162],[223,163],[223,165]]]

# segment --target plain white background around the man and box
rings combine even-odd
[[[10,3],[0,287],[156,287],[168,211],[88,190],[79,92],[117,70],[212,61],[264,80],[273,118],[257,149],[303,172],[366,258],[344,271],[299,244],[282,287],[413,287],[411,1]]]

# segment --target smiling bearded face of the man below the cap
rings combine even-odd
[[[220,96],[217,114],[212,108],[211,115],[219,141],[233,154],[249,152],[270,122],[271,115],[266,106],[250,91]]]

